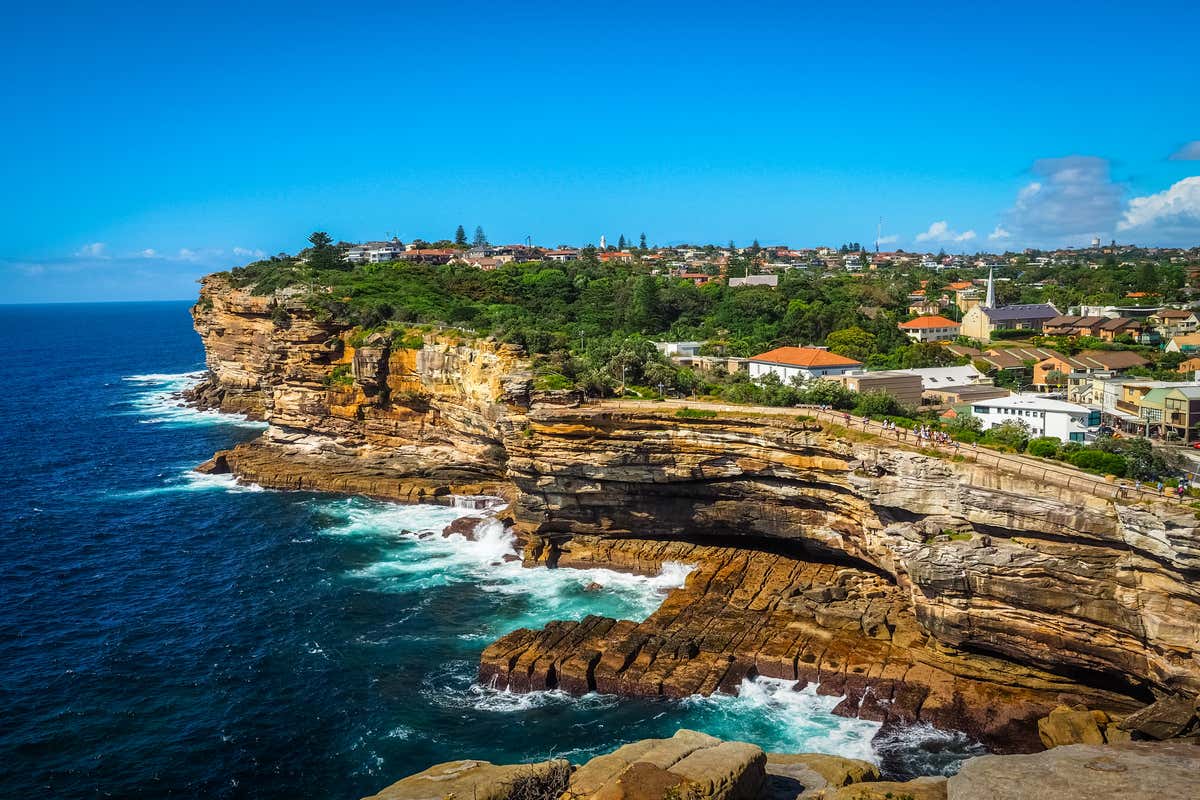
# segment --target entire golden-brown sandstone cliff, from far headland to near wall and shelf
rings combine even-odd
[[[270,422],[208,469],[408,500],[498,493],[530,565],[697,565],[644,624],[496,643],[484,673],[514,686],[790,676],[846,693],[850,714],[1014,748],[1060,702],[1127,711],[1123,697],[1200,691],[1190,509],[1114,505],[798,417],[553,404],[510,347],[359,341],[218,277],[194,317],[198,399]]]

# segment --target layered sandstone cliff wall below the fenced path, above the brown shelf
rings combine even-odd
[[[533,409],[506,443],[516,527],[788,546],[899,587],[937,642],[1098,686],[1200,691],[1192,509],[1114,505],[803,419]]]

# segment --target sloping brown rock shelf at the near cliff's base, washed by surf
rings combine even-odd
[[[956,728],[1000,750],[1033,748],[1037,720],[1066,702],[1135,708],[1121,694],[941,645],[899,587],[862,569],[589,536],[558,553],[560,565],[646,572],[670,561],[696,569],[644,621],[588,616],[515,631],[484,650],[481,680],[517,691],[682,698],[736,693],[761,675],[845,696],[835,712],[846,716]]]

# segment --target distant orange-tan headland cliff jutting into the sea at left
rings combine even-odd
[[[208,469],[402,499],[506,487],[503,443],[529,403],[518,349],[418,331],[355,338],[295,293],[252,295],[220,276],[192,314],[209,367],[196,399],[270,423]]]

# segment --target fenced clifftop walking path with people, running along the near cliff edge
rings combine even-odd
[[[890,439],[906,444],[910,447],[936,450],[946,457],[961,456],[966,462],[992,467],[997,470],[1003,470],[1022,477],[1030,477],[1045,483],[1052,483],[1073,491],[1088,492],[1096,497],[1108,500],[1160,500],[1180,504],[1184,500],[1190,500],[1188,497],[1176,497],[1174,493],[1159,493],[1153,486],[1135,487],[1133,483],[1124,480],[1110,481],[1098,475],[1092,475],[1090,473],[1073,469],[1072,467],[1056,464],[1040,458],[1018,456],[1015,453],[1001,453],[995,450],[979,447],[977,445],[967,445],[959,441],[940,443],[932,439],[920,439],[917,437],[916,432],[906,428],[884,428],[875,420],[854,416],[853,414],[848,414],[846,411],[827,410],[817,405],[780,408],[775,405],[734,405],[730,403],[707,403],[703,401],[678,399],[606,399],[589,404],[614,410],[628,409],[636,411],[664,408],[670,408],[672,410],[692,408],[697,410],[716,411],[718,414],[754,414],[792,419],[796,416],[811,416],[816,420],[840,425],[852,431],[863,431],[884,441]]]

